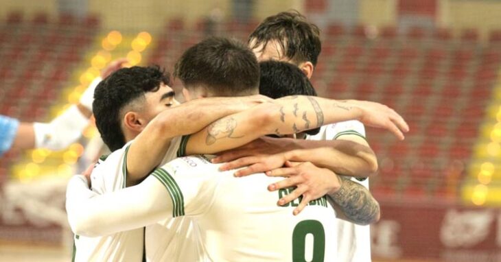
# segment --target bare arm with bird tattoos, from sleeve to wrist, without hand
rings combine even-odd
[[[357,119],[360,115],[358,108],[331,99],[285,97],[211,123],[191,136],[188,147],[197,153],[211,154],[239,147],[266,134],[295,134],[325,123]]]

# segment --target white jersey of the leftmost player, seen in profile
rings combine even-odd
[[[163,163],[176,158],[181,137],[172,139]],[[130,141],[124,147],[101,159],[91,174],[91,190],[102,195],[126,187],[126,156]],[[103,237],[75,235],[73,261],[141,261],[144,229],[128,230]]]

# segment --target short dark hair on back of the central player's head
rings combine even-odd
[[[208,88],[212,95],[251,95],[259,86],[254,53],[237,40],[211,37],[189,47],[174,66],[185,87]]]

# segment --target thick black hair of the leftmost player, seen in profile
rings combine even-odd
[[[126,144],[121,130],[121,112],[147,92],[156,92],[170,77],[158,66],[119,69],[97,85],[94,92],[95,125],[104,143],[113,152]]]

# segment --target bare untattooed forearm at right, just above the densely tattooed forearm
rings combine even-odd
[[[296,150],[285,152],[286,159],[311,162],[344,176],[367,177],[377,171],[377,159],[370,147],[344,140],[297,140]]]

